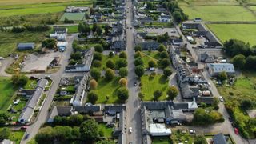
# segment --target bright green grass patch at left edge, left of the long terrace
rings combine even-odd
[[[10,78],[0,77],[0,111],[6,111],[10,106],[15,90]]]

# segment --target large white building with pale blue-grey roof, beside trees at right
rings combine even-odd
[[[234,74],[234,66],[230,63],[210,63],[208,64],[208,71],[211,76],[217,76],[222,71],[225,71],[226,74]]]

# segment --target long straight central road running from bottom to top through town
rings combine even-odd
[[[126,2],[126,9],[129,13],[126,17],[126,26],[129,28],[132,26],[132,2],[130,0]],[[127,106],[127,127],[132,127],[132,134],[127,134],[128,142],[142,143],[142,129],[141,129],[141,116],[140,116],[140,101],[138,100],[138,86],[134,86],[136,82],[136,75],[134,73],[134,29],[126,29],[126,42],[127,42],[127,55],[128,55],[128,89],[129,89],[129,99],[126,104]],[[128,143],[127,142],[127,143]]]

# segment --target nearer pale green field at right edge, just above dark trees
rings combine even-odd
[[[254,24],[210,24],[207,26],[222,42],[235,38],[256,45],[256,25]]]

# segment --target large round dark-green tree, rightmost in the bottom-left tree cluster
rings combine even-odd
[[[95,122],[93,118],[82,122],[80,126],[80,134],[85,141],[95,140],[98,138],[98,123]]]

